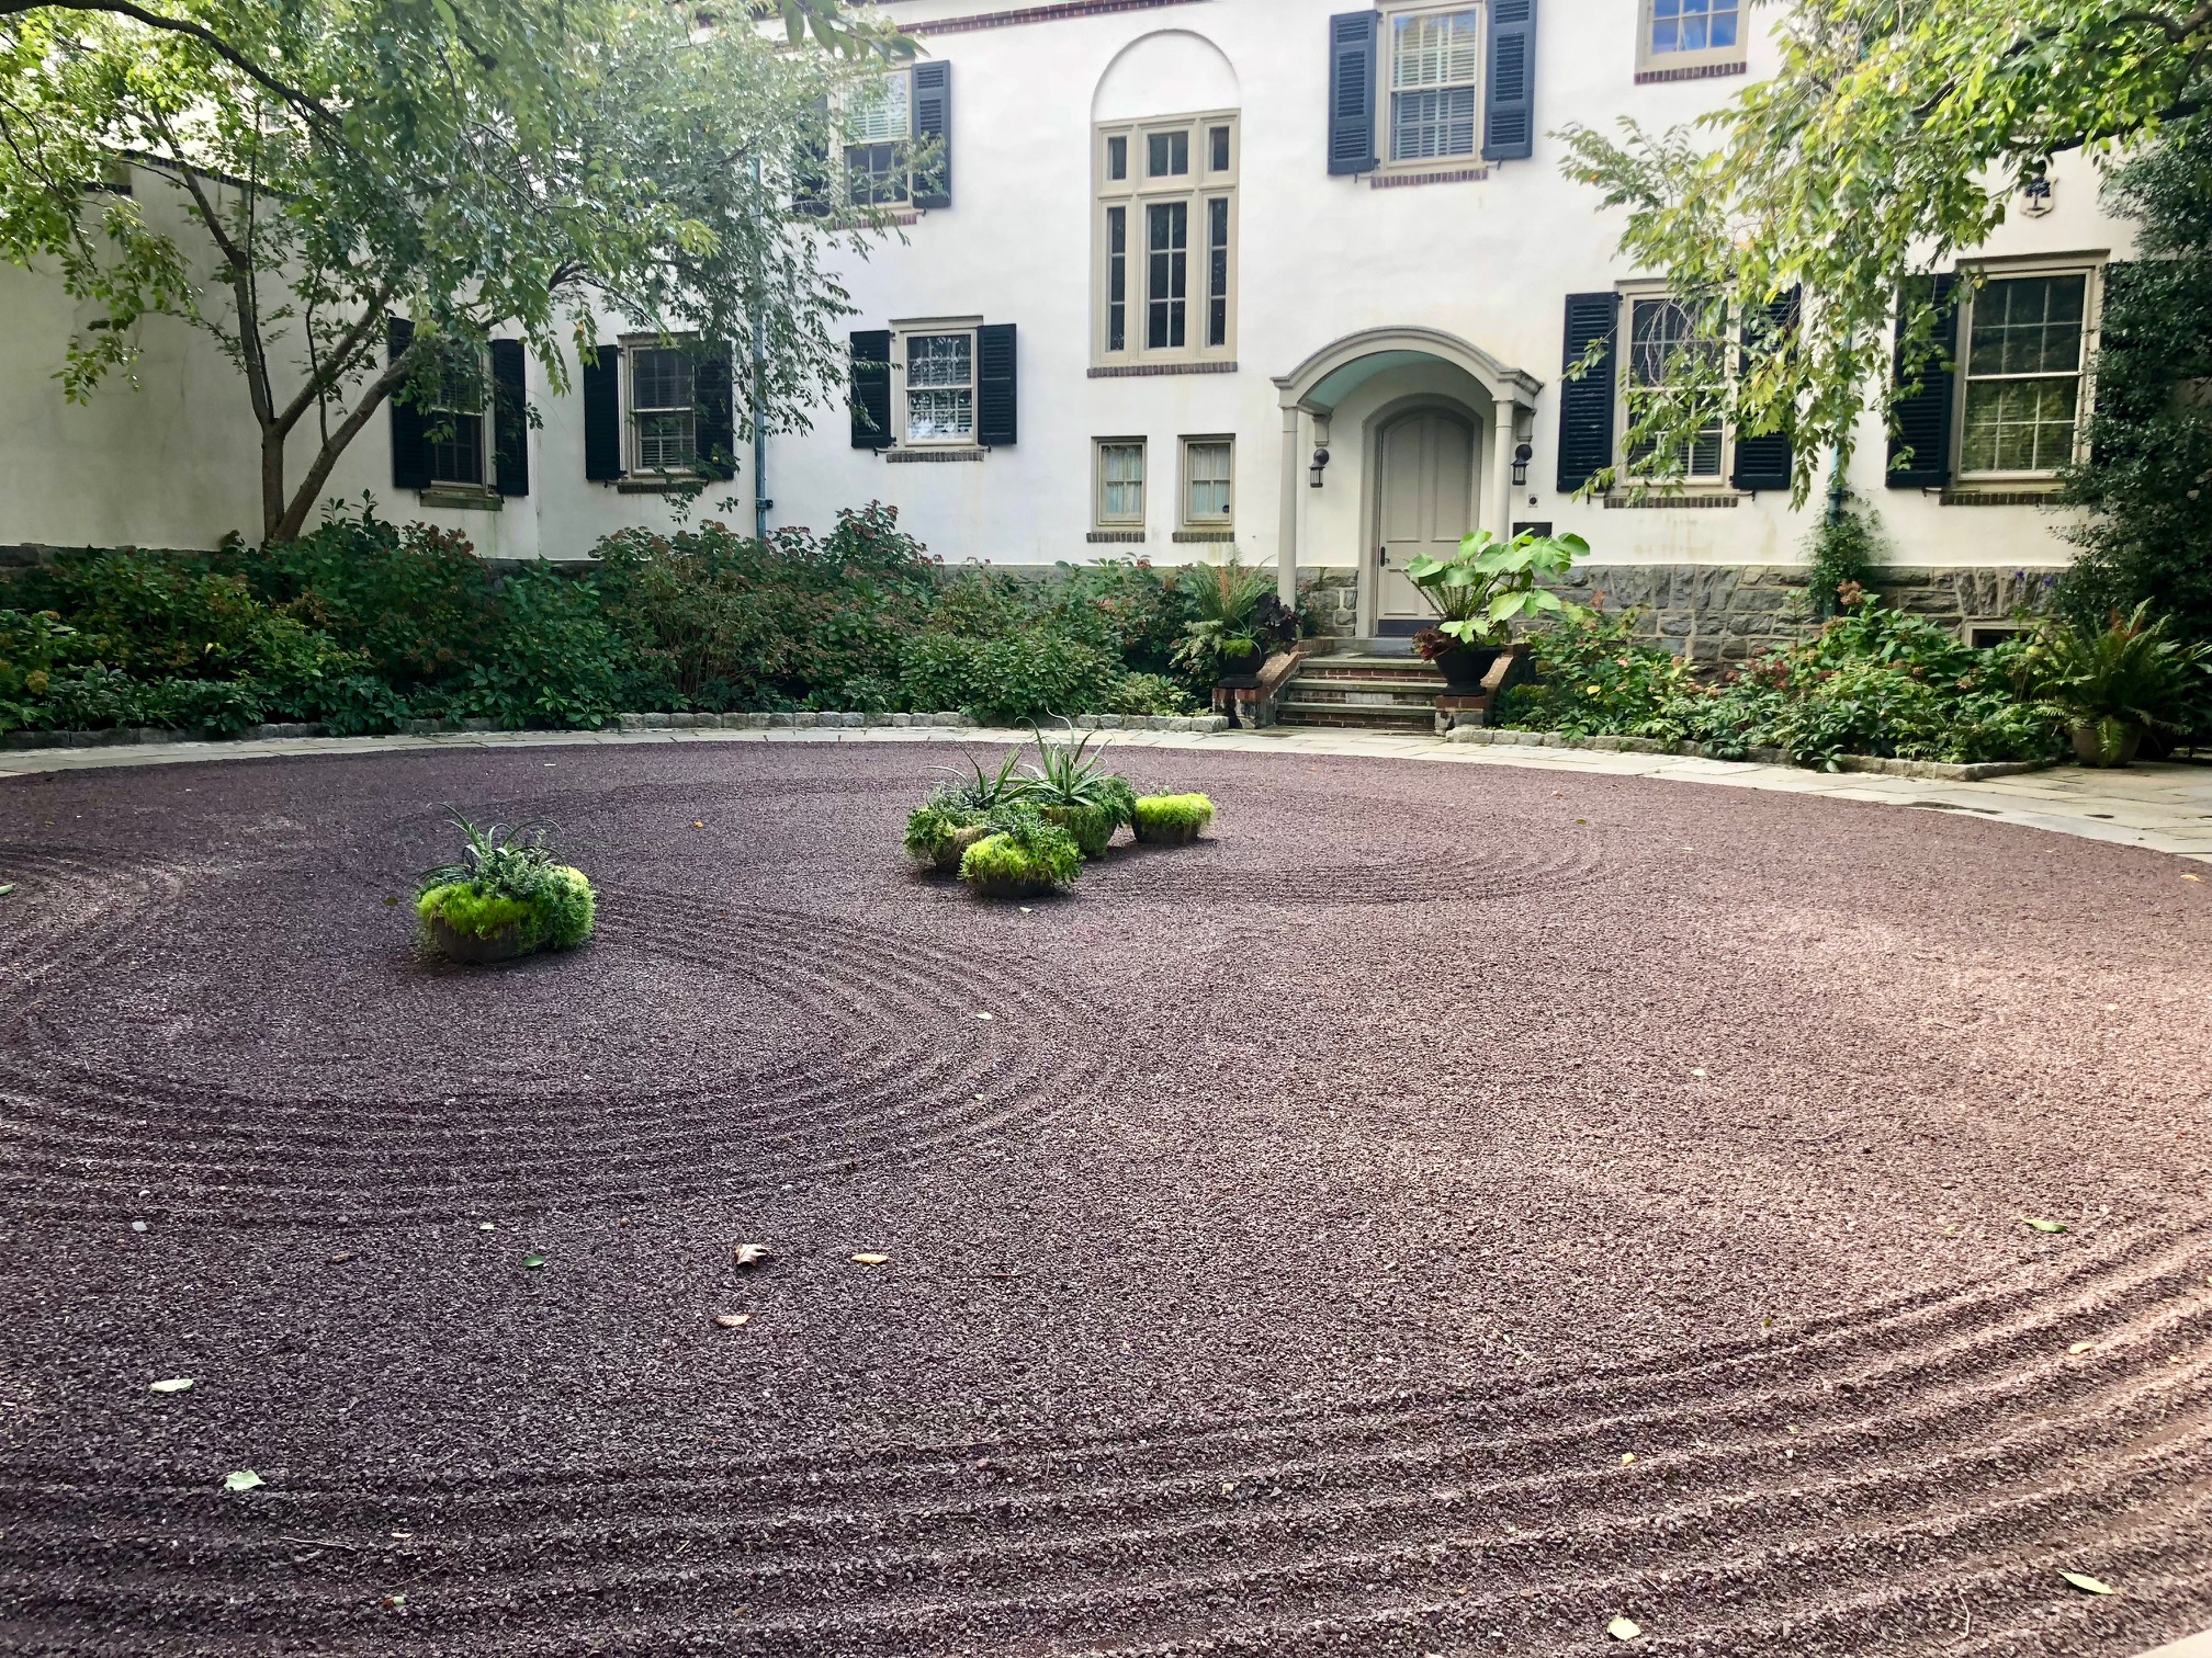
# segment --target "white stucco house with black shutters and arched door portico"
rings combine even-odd
[[[1714,429],[1681,493],[1575,500],[1615,460],[1663,340],[1663,283],[1559,170],[1568,119],[1672,124],[1770,64],[1743,0],[887,0],[927,57],[847,126],[900,219],[847,272],[852,409],[748,444],[710,502],[827,526],[883,500],[949,562],[1183,562],[1234,546],[1325,588],[1338,630],[1411,630],[1400,575],[1471,526],[1573,528],[1593,581],[1686,641],[1756,637],[1818,504],[1787,447]],[[942,139],[907,177],[900,144]],[[1960,367],[1907,411],[1909,471],[1869,422],[1851,486],[1909,601],[2000,623],[2068,557],[2053,473],[2093,387],[2099,274],[2128,225],[2095,172],[1975,254]],[[148,325],[144,389],[62,400],[58,283],[0,270],[0,546],[208,546],[259,522],[254,431],[230,369]],[[1595,336],[1621,349],[1584,380]],[[619,340],[542,427],[480,422],[429,451],[405,411],[332,493],[458,526],[491,557],[588,553],[664,522],[650,475],[728,420],[653,340]],[[520,354],[515,354],[520,358]],[[500,365],[495,365],[500,367]],[[511,363],[535,380],[535,365]],[[739,393],[743,374],[739,371]],[[128,455],[126,473],[117,458]],[[1778,579],[1778,577],[1776,577]],[[1728,652],[1723,652],[1728,654]]]

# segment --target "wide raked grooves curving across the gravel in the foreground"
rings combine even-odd
[[[268,1649],[774,1658],[1040,1651],[1037,1629],[1159,1658],[1498,1649],[1491,1631],[1551,1654],[1621,1609],[1663,1651],[1869,1654],[1955,1636],[1971,1607],[2004,1651],[2073,1563],[2024,1559],[2022,1534],[2099,1528],[2108,1570],[2201,1589],[2154,1532],[2212,1514],[2208,1265],[2212,1240],[2139,1229],[2057,1282],[1794,1340],[1201,1433],[283,1488],[223,1510],[190,1559],[159,1523],[175,1490],[64,1505],[13,1479],[0,1563],[73,1651],[144,1643],[157,1607]],[[394,1589],[405,1620],[363,1638]]]

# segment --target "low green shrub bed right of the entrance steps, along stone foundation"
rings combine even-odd
[[[1856,584],[1843,615],[1809,639],[1699,681],[1635,634],[1635,617],[1590,615],[1528,634],[1535,681],[1500,696],[1498,723],[1566,736],[1703,743],[1723,758],[1754,747],[1834,767],[1845,754],[1905,760],[2042,760],[2066,716],[2024,688],[2028,650],[1975,650]]]

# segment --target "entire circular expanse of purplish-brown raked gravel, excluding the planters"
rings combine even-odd
[[[942,758],[0,785],[0,1651],[2212,1625],[2177,862],[1133,749],[1214,836],[1024,913],[898,869]],[[418,959],[447,800],[557,822],[599,937]]]

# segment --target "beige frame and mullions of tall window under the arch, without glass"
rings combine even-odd
[[[1228,128],[1228,168],[1214,168],[1214,128]],[[1148,177],[1155,137],[1183,135],[1190,170]],[[1128,146],[1126,177],[1115,179],[1110,153],[1115,141]],[[1237,111],[1201,111],[1144,122],[1110,122],[1093,130],[1093,259],[1091,259],[1091,363],[1093,367],[1130,367],[1148,363],[1234,363],[1237,360],[1237,199],[1243,164],[1243,130]],[[1150,312],[1155,301],[1150,259],[1150,210],[1183,203],[1183,343],[1152,345]],[[1219,210],[1214,203],[1223,203]],[[1121,212],[1121,338],[1113,343],[1113,214]],[[1217,212],[1225,245],[1214,261]],[[1217,290],[1219,276],[1219,290]],[[1219,338],[1214,307],[1219,301]]]

